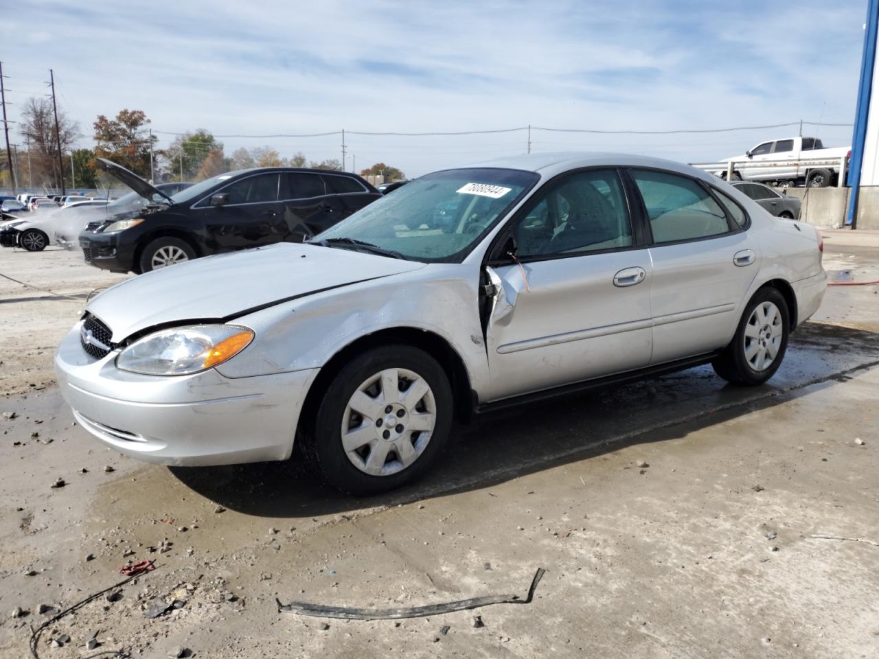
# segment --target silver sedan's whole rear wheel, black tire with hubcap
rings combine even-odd
[[[775,288],[761,288],[748,302],[736,336],[711,366],[732,384],[763,384],[781,366],[789,334],[790,314],[784,296]]]

